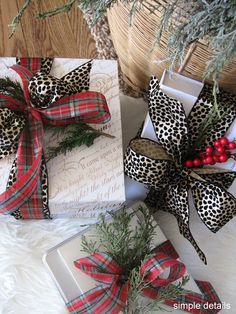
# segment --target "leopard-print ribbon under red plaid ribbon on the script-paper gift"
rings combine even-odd
[[[34,108],[46,109],[53,102],[64,96],[89,90],[92,60],[79,66],[60,79],[49,74],[52,63],[53,59],[51,58],[42,58],[40,60],[17,58],[17,64],[22,66],[22,70],[25,67],[36,71],[30,78],[28,85],[31,105]],[[26,120],[22,113],[9,108],[0,108],[0,159],[17,151],[18,140],[25,125]],[[7,189],[16,183],[17,171],[16,157],[10,171]],[[50,211],[48,209],[48,175],[44,157],[42,158],[40,176],[42,213],[44,218],[50,218]],[[20,209],[15,210],[12,215],[16,219],[24,218]]]

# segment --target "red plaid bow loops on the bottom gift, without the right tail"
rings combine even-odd
[[[107,253],[96,252],[86,258],[75,261],[75,266],[100,283],[94,289],[81,295],[73,305],[76,313],[119,313],[125,306],[130,289],[130,274],[125,275],[119,264]],[[167,278],[161,278],[165,270]],[[144,278],[143,295],[157,298],[161,287],[168,285],[185,274],[185,266],[165,253],[154,253],[140,267],[140,278]]]

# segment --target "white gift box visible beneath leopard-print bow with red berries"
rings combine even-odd
[[[170,73],[167,70],[164,71],[159,84],[165,94],[179,100],[183,104],[187,116],[203,88],[203,83],[177,73]],[[236,140],[236,119],[227,131],[226,136],[231,141]],[[149,138],[153,141],[157,139],[149,114],[146,116],[141,137]],[[217,163],[213,167],[236,171],[236,162],[231,158],[226,163]],[[125,185],[126,197],[130,202],[144,200],[149,192],[148,187],[144,184],[134,181],[127,176],[125,177]],[[234,180],[229,191],[236,195],[236,180]]]

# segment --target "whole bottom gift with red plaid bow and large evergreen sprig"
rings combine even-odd
[[[45,262],[73,314],[221,309],[212,286],[191,278],[143,203],[101,218],[52,249]]]

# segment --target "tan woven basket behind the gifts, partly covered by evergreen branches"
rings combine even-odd
[[[155,64],[153,61],[165,60],[168,58],[167,42],[172,35],[165,32],[161,38],[161,45],[155,45],[155,38],[161,21],[161,9],[168,0],[147,0],[150,3],[160,5],[160,12],[150,14],[142,8],[136,12],[130,22],[130,5],[118,1],[108,10],[108,22],[111,31],[114,47],[116,49],[124,80],[136,91],[144,91],[148,86],[149,78],[152,74],[161,77],[162,72],[168,67],[168,63]],[[178,12],[184,13],[187,18],[189,3],[186,0],[184,8],[176,8],[174,12],[176,27],[180,22]],[[202,80],[203,72],[208,60],[212,57],[212,50],[204,41],[192,44],[186,51],[185,59],[176,71],[193,79]],[[236,59],[227,65],[220,76],[220,86],[226,90],[236,92]]]

